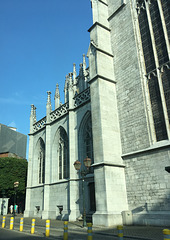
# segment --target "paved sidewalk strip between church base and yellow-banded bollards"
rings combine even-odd
[[[9,228],[9,222],[10,222],[10,217],[11,214],[8,214],[6,217],[6,228]],[[23,217],[23,215],[18,214],[15,217],[15,223],[14,226],[16,225],[17,228],[19,229],[19,223],[20,223],[20,218]],[[2,224],[2,218],[3,216],[0,216],[0,227]],[[25,229],[30,229],[31,228],[31,222],[32,218],[24,218],[24,228]],[[37,234],[39,234],[40,229],[41,234],[42,231],[45,232],[45,225],[46,225],[46,220],[36,218],[35,219],[35,226],[39,229],[37,230]],[[63,226],[64,222],[59,221],[59,220],[50,220],[50,231],[53,232],[63,232]],[[166,227],[165,227],[166,228]],[[124,226],[123,227],[123,233],[124,233],[124,239],[129,239],[129,240],[163,240],[163,229],[164,227],[153,227],[153,226]],[[27,230],[28,231],[28,230]],[[82,222],[81,221],[76,221],[76,222],[69,222],[68,223],[68,232],[70,233],[77,233],[77,234],[86,234],[87,228],[82,227]],[[101,226],[93,226],[93,236],[96,236],[96,239],[98,239],[97,236],[100,236],[100,239],[115,239],[117,237],[117,229],[115,228],[106,228],[106,227],[101,227]],[[103,236],[103,237],[102,237]],[[80,238],[79,238],[80,239]],[[82,239],[84,239],[82,237]]]

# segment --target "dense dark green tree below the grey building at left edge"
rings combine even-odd
[[[27,178],[26,159],[18,158],[0,158],[0,197],[10,198],[10,204],[14,201],[14,182],[19,182],[17,188],[17,204],[24,208],[25,187]]]

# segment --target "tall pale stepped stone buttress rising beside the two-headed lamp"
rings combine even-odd
[[[94,144],[96,212],[94,225],[122,224],[128,209],[107,4],[92,1],[89,69]],[[105,38],[103,38],[105,36]]]

